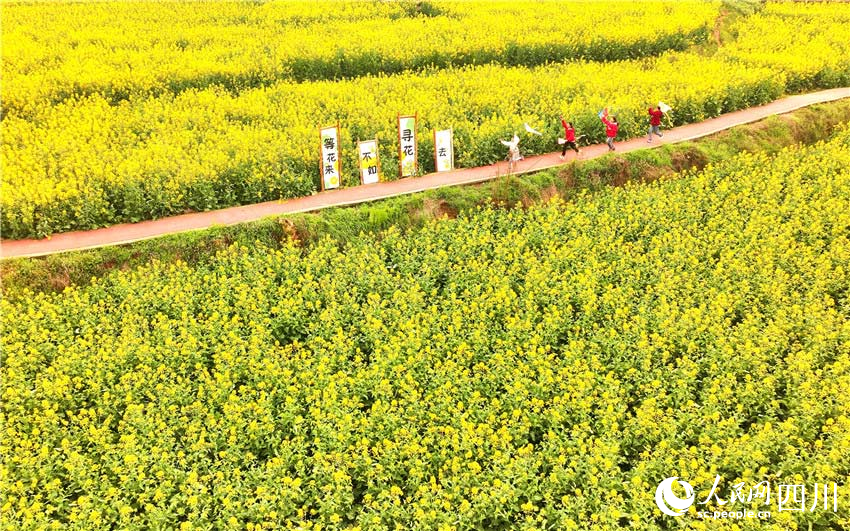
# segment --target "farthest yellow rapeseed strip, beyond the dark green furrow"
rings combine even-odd
[[[12,4],[3,9],[6,111],[93,93],[212,84],[239,91],[407,69],[616,60],[704,40],[718,2],[413,0]]]

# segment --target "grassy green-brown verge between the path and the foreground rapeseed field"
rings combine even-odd
[[[343,244],[361,233],[380,232],[392,226],[413,229],[430,220],[453,218],[480,206],[524,208],[556,196],[570,200],[605,186],[650,182],[683,170],[701,169],[741,151],[774,153],[795,144],[813,144],[828,138],[847,122],[850,122],[850,100],[838,100],[656,149],[536,168],[524,175],[486,182],[474,179],[454,186],[375,198],[354,206],[269,216],[108,247],[8,258],[0,262],[2,291],[8,299],[30,292],[59,292],[68,286],[87,285],[93,278],[115,270],[133,269],[153,261],[202,263],[233,244],[263,242],[279,247],[294,240],[306,246],[325,237]]]

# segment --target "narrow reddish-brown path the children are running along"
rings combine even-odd
[[[809,105],[826,103],[843,98],[850,98],[850,88],[838,88],[813,92],[811,94],[789,96],[761,107],[744,109],[704,122],[684,125],[665,131],[664,138],[661,141],[656,139],[652,144],[646,142],[646,137],[618,142],[616,144],[617,151],[619,153],[625,153],[638,149],[657,147],[663,144],[692,140],[737,125],[755,122],[775,114],[784,114]],[[607,146],[596,144],[582,149],[578,159],[594,159],[607,153]],[[575,153],[569,152],[566,161],[561,161],[559,155],[560,152],[555,152],[529,157],[519,162],[515,173],[529,173],[552,168],[569,163],[575,160],[576,157]],[[210,212],[197,212],[139,223],[124,223],[103,229],[66,232],[55,234],[50,238],[42,240],[3,240],[0,242],[0,257],[41,256],[64,251],[78,251],[107,245],[130,243],[156,238],[157,236],[164,236],[166,234],[205,229],[214,225],[235,225],[237,223],[255,221],[266,216],[310,212],[323,208],[353,205],[387,197],[411,194],[432,188],[441,188],[443,186],[478,183],[505,175],[507,171],[507,163],[502,162],[490,166],[464,168],[447,173],[431,173],[417,178],[332,190],[296,199],[269,201]]]

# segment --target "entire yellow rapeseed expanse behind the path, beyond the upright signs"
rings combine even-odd
[[[355,142],[375,136],[395,178],[398,113],[419,113],[431,171],[432,128],[452,127],[473,166],[503,158],[523,122],[545,133],[523,141],[535,154],[555,149],[559,114],[601,141],[609,106],[628,138],[660,99],[682,124],[850,79],[850,4],[768,4],[714,55],[660,56],[701,41],[718,4],[325,5],[4,6],[4,236],[312,193],[317,128],[337,120],[354,185]]]

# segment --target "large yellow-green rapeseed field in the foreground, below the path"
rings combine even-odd
[[[571,204],[2,300],[0,525],[657,530],[673,475],[699,499],[720,474],[845,500],[848,194],[845,130]],[[676,527],[850,517],[772,504]]]

